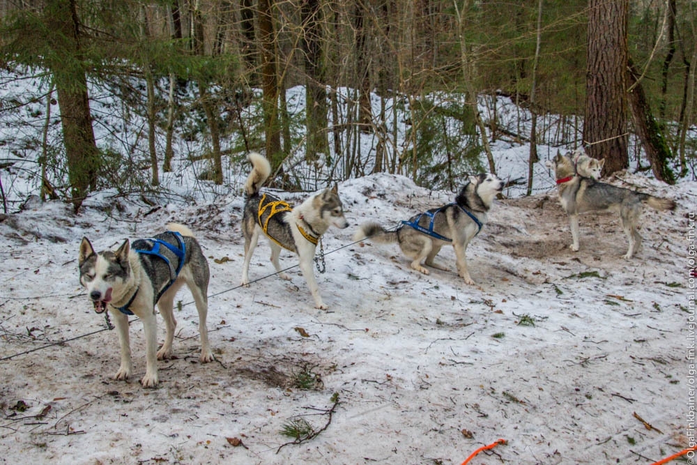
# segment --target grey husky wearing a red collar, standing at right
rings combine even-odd
[[[641,236],[636,231],[641,217],[643,204],[656,210],[673,210],[675,202],[652,195],[636,192],[614,185],[600,183],[593,178],[579,176],[574,160],[569,155],[557,154],[546,165],[554,169],[562,208],[569,215],[571,227],[571,250],[579,250],[579,213],[588,211],[619,211],[622,229],[627,234],[629,249],[625,259],[632,256],[641,247]]]

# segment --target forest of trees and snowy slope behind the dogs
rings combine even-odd
[[[608,172],[631,158],[667,183],[694,178],[694,1],[0,0],[0,15],[3,85],[42,89],[0,102],[0,118],[45,102],[13,120],[1,168],[33,157],[41,197],[76,210],[106,187],[158,192],[173,156],[222,184],[252,150],[289,190],[379,171],[452,188],[496,172],[500,138],[530,143],[530,167],[543,141],[584,146]],[[95,114],[94,89],[118,104]],[[501,97],[514,127],[498,124]],[[100,119],[134,115],[134,139],[95,137]],[[175,153],[177,137],[199,149]],[[530,193],[532,174],[512,181]]]

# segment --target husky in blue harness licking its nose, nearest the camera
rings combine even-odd
[[[146,372],[141,380],[144,388],[158,385],[157,360],[171,358],[176,320],[173,305],[176,291],[186,284],[199,311],[201,356],[199,361],[213,360],[208,346],[206,314],[208,313],[208,261],[192,232],[182,224],[167,224],[167,232],[131,244],[126,239],[116,252],[95,252],[85,237],[80,243],[78,264],[80,282],[97,313],[111,312],[121,342],[121,367],[114,379],[128,379],[133,372],[128,315],[143,322],[146,342]],[[167,335],[157,350],[158,327],[155,304],[167,328]]]

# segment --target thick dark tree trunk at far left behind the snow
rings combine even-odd
[[[56,47],[56,54],[65,56],[52,65],[58,93],[63,126],[63,144],[68,161],[71,201],[75,211],[82,206],[86,195],[95,188],[99,151],[92,128],[92,116],[87,95],[87,78],[82,67],[61,66],[75,63],[82,55],[79,18],[75,0],[49,0],[44,10],[49,28],[58,31],[65,41]],[[70,59],[68,59],[70,57]]]

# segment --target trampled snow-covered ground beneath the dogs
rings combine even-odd
[[[694,388],[695,183],[623,179],[613,182],[679,204],[645,211],[636,259],[622,259],[627,244],[611,214],[585,215],[581,251],[571,252],[549,190],[496,201],[468,249],[474,287],[457,277],[450,248],[439,257],[452,271],[427,276],[396,245],[351,243],[355,224],[396,226],[452,194],[386,174],[341,183],[353,227],[325,236],[326,312],[312,307],[298,268],[290,282],[238,287],[240,195],[155,211],[119,199],[79,216],[57,201],[30,202],[0,221],[0,462],[460,464],[499,438],[507,445],[471,463],[648,464],[682,450]],[[146,390],[138,321],[134,379],[111,379],[116,333],[79,286],[77,248],[84,235],[114,247],[171,220],[190,225],[209,258],[217,361],[198,363],[196,312],[181,291],[178,358],[160,362],[160,387]],[[273,273],[268,250],[261,241],[252,279]],[[284,252],[282,264],[297,261]],[[325,429],[284,445],[293,439],[280,431],[297,418]]]

